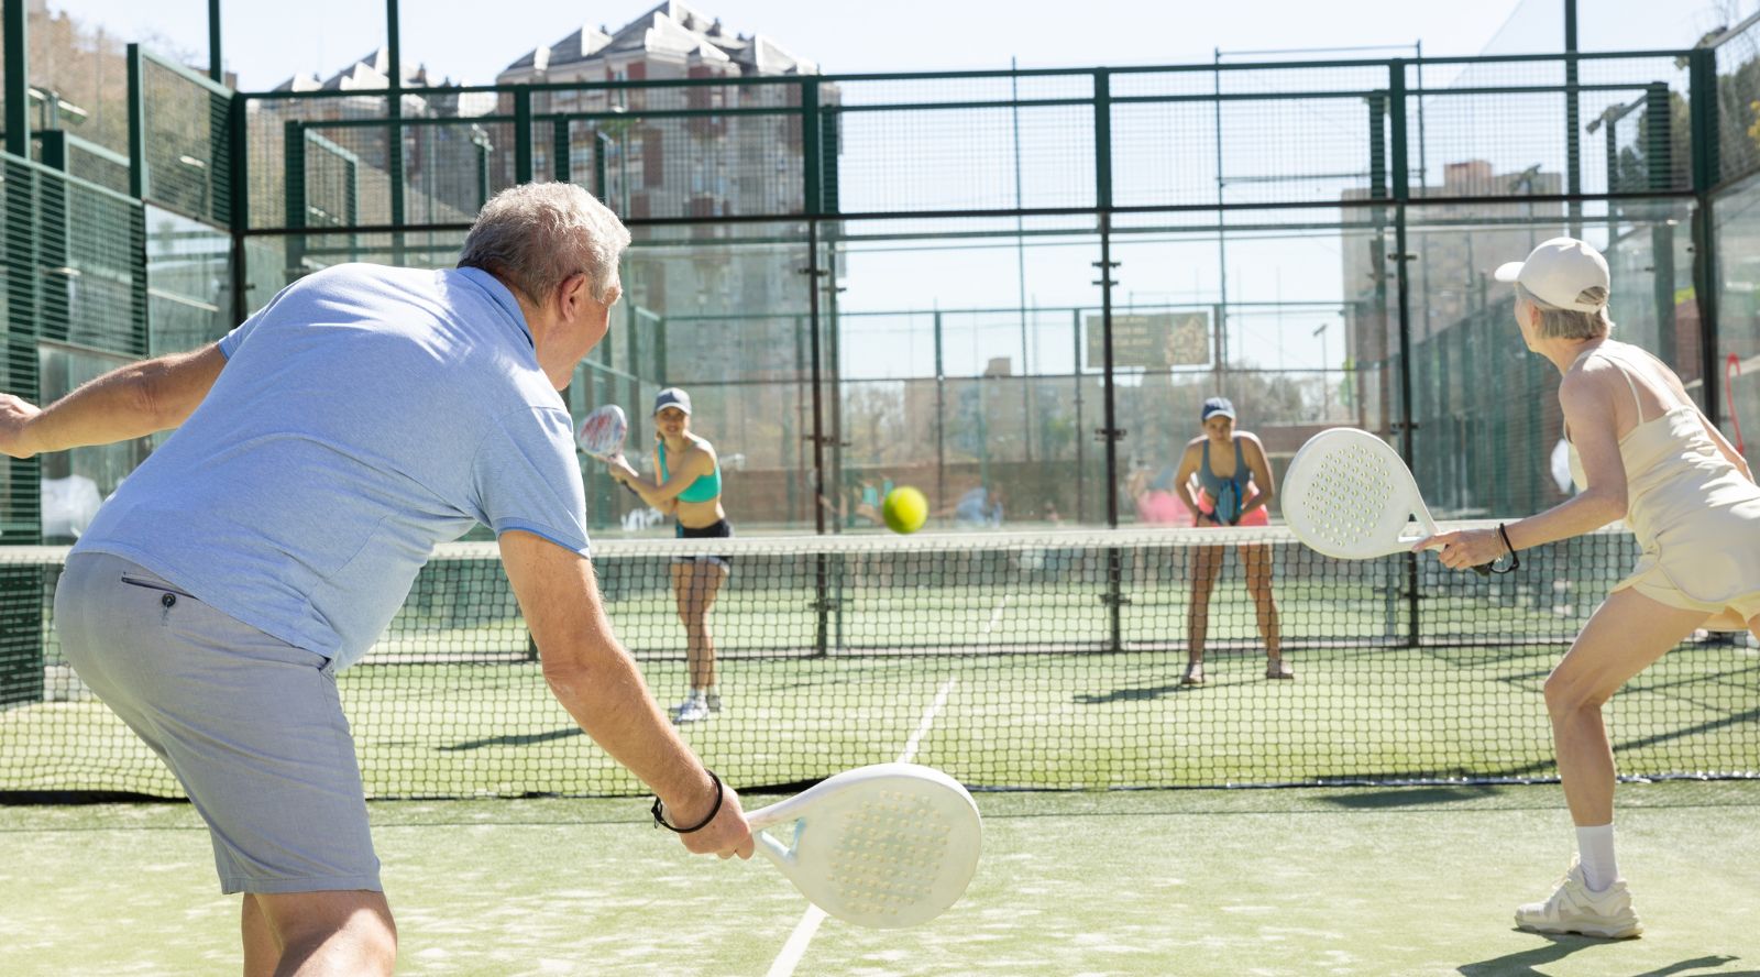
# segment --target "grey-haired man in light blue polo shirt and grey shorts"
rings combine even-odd
[[[653,787],[692,852],[752,854],[618,644],[588,563],[558,396],[604,334],[628,231],[579,187],[498,194],[444,271],[345,264],[218,343],[37,410],[0,394],[0,451],[176,428],[81,535],[56,597],[79,676],[164,757],[243,893],[246,973],[389,973],[334,672],[389,623],[436,542],[495,530],[556,699]]]

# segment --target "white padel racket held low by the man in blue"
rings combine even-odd
[[[746,820],[757,848],[813,905],[887,929],[959,901],[984,838],[972,794],[917,764],[843,771]]]

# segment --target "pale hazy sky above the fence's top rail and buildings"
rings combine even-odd
[[[127,39],[158,37],[194,60],[208,58],[206,0],[49,0],[55,11],[104,25]],[[618,28],[653,4],[556,0],[405,0],[403,55],[436,76],[488,84],[540,42],[581,25]],[[1558,49],[1563,0],[1088,0],[1082,4],[943,4],[894,0],[702,0],[729,30],[766,33],[827,72],[1140,65],[1207,62],[1216,48],[1410,46],[1426,55]],[[1688,46],[1751,0],[1579,0],[1584,49]],[[875,14],[875,11],[884,11]],[[299,16],[289,16],[297,11]],[[1007,16],[998,14],[1007,11]],[[486,16],[486,12],[489,12]],[[1500,35],[1500,28],[1510,25]],[[375,0],[224,0],[225,63],[245,90],[266,90],[294,72],[334,74],[385,37]],[[1389,56],[1387,53],[1368,53]]]

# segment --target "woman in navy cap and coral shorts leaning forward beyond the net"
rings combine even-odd
[[[1225,396],[1204,401],[1199,412],[1204,433],[1186,442],[1174,472],[1179,498],[1199,526],[1269,526],[1265,505],[1274,493],[1265,445],[1250,431],[1236,431],[1234,403]],[[1197,482],[1199,493],[1192,493]],[[1283,660],[1278,600],[1271,593],[1271,547],[1236,547],[1246,570],[1258,635],[1265,641],[1265,678],[1295,678]],[[1192,609],[1186,613],[1186,674],[1181,685],[1204,685],[1204,641],[1209,635],[1209,599],[1221,574],[1223,547],[1199,546],[1192,555]]]

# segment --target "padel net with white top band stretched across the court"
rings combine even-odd
[[[1635,542],[1593,533],[1489,579],[1329,560],[1281,526],[600,542],[607,613],[667,704],[688,687],[686,556],[730,558],[688,565],[718,581],[722,709],[683,727],[729,782],[910,753],[973,787],[1114,789],[1556,776],[1542,683]],[[60,655],[63,558],[0,551],[0,796],[178,796]],[[1271,567],[1292,681],[1265,674],[1250,565]],[[1181,685],[1193,618],[1207,681]],[[1746,635],[1674,650],[1607,709],[1621,771],[1756,776],[1756,678]],[[373,797],[642,790],[549,697],[493,544],[438,549],[338,685]]]

